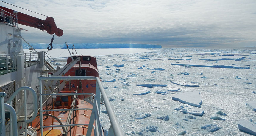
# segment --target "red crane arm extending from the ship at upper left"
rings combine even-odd
[[[8,9],[6,7],[2,7],[0,6],[1,9],[14,14],[14,10],[12,9]],[[5,13],[5,14],[9,14],[9,13]],[[52,17],[46,17],[45,20],[41,20],[39,18],[36,17],[32,17],[29,16],[27,14],[18,12],[17,14],[17,20],[18,20],[18,24],[22,24],[22,25],[26,25],[26,26],[30,26],[30,27],[34,27],[34,28],[38,28],[42,31],[47,31],[47,33],[49,34],[54,34],[57,36],[62,36],[63,35],[63,30],[61,30],[60,28],[57,28],[55,22],[54,22],[54,18]]]

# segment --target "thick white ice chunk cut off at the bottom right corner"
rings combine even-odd
[[[240,131],[249,133],[251,135],[256,135],[256,124],[252,122],[240,119],[237,123],[237,126]]]

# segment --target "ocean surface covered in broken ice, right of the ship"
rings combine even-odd
[[[125,135],[249,135],[238,129],[238,121],[256,124],[255,48],[139,52],[95,55],[102,85]],[[156,85],[137,86],[141,84]],[[108,130],[105,110],[101,106],[101,123]]]

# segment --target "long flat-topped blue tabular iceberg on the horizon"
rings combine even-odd
[[[29,43],[33,48],[45,49],[48,43]],[[74,44],[76,49],[98,49],[98,48],[162,48],[154,44],[126,44],[126,43],[69,43]],[[22,43],[24,49],[31,48],[27,43]],[[53,48],[65,49],[65,44],[52,44]]]

